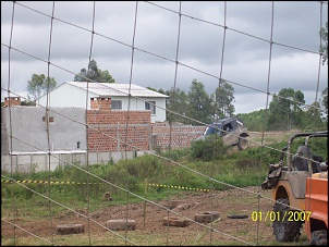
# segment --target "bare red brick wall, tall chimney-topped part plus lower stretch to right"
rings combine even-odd
[[[92,152],[167,150],[169,144],[172,149],[190,147],[191,140],[206,128],[178,123],[170,127],[168,122],[151,124],[150,111],[111,111],[110,98],[92,99],[90,108],[87,124],[90,126],[88,150]]]

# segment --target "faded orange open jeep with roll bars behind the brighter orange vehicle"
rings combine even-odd
[[[304,145],[300,145],[301,138]],[[312,151],[310,139],[318,138],[326,138],[326,141],[322,141],[326,147],[322,148],[326,148],[327,156],[328,131],[298,133],[293,135],[282,149],[279,163],[269,164],[269,173],[261,188],[272,189],[276,215],[272,227],[278,242],[298,240],[303,223],[312,217],[312,210],[305,207],[306,181],[314,173],[328,170],[324,158]]]

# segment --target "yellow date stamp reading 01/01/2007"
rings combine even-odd
[[[309,221],[310,211],[253,211],[252,221]]]

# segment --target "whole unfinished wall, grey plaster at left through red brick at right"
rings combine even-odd
[[[53,170],[66,163],[117,162],[158,149],[188,147],[205,129],[180,123],[170,125],[166,121],[153,123],[149,110],[113,110],[111,106],[110,97],[94,97],[89,110],[50,108],[49,141],[45,108],[17,104],[1,108],[1,169],[29,172],[36,164],[37,170],[46,171],[49,165]],[[8,135],[10,129],[15,138]]]

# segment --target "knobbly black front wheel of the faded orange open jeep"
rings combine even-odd
[[[281,205],[281,203],[285,205]],[[273,221],[273,234],[278,242],[294,242],[298,240],[301,236],[301,227],[302,227],[302,221],[289,221],[289,211],[290,207],[289,199],[278,199],[275,203],[273,211],[276,212],[276,215],[279,215],[279,219],[277,218]],[[284,217],[285,215],[285,217]]]

